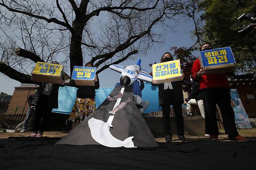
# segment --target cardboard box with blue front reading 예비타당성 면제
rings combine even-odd
[[[96,67],[74,66],[72,80],[76,85],[94,86],[96,76]]]

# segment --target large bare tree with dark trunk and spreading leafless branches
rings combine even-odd
[[[161,33],[154,28],[170,28],[170,19],[175,20],[184,3],[187,2],[0,0],[0,72],[30,83],[27,70],[33,62],[61,60],[70,75],[74,66],[82,66],[84,61],[93,62],[100,73],[110,64],[145,54],[161,43]]]

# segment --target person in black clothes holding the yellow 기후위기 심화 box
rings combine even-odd
[[[53,61],[52,64],[59,63],[57,61]],[[58,81],[58,84],[40,84],[32,102],[30,103],[31,106],[35,106],[33,134],[31,134],[30,137],[42,137],[44,131],[46,131],[51,111],[53,108],[58,108],[59,88],[60,86],[64,87],[64,84],[65,82],[63,78]]]

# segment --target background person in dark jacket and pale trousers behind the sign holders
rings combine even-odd
[[[200,92],[200,83],[196,82],[192,76],[191,76],[191,82],[188,82],[186,80],[183,80],[183,83],[187,84],[187,85],[191,85],[192,86],[192,90],[188,95],[188,98],[184,100],[184,104],[187,104],[187,109],[188,109],[188,115],[187,116],[191,116],[191,104],[193,105],[198,105],[198,108],[200,109],[200,113],[203,117],[203,119],[205,118],[204,115],[204,108],[203,108],[203,98]]]

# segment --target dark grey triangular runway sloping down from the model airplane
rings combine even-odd
[[[110,96],[116,96],[121,91],[121,88],[122,87],[115,87]],[[128,102],[123,109],[116,112],[111,123],[113,128],[109,129],[110,133],[116,137],[116,139],[121,141],[133,136],[134,146],[137,147],[158,147],[146,121],[133,102],[132,86],[124,88],[121,102],[126,101],[128,97],[130,97],[132,100]],[[57,142],[57,144],[98,145],[98,143],[95,142],[91,137],[88,120],[93,117],[95,119],[107,122],[109,116],[113,116],[113,114],[109,113],[109,111],[112,111],[115,104],[116,100],[109,101],[108,99],[105,99],[105,101],[95,111],[93,111],[93,113],[91,113],[79,125],[77,125],[77,127],[69,132],[68,135]]]

